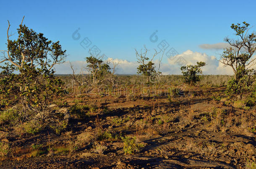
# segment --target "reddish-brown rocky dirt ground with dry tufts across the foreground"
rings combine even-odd
[[[12,148],[0,168],[176,169],[253,168],[256,109],[227,105],[223,88],[193,88],[193,95],[67,97],[68,105],[96,105],[86,117],[72,115],[61,134],[8,134]],[[49,134],[48,134],[49,133]],[[136,137],[139,151],[125,154],[121,138]],[[32,145],[52,153],[32,155]],[[65,148],[65,151],[57,151]],[[55,150],[54,150],[55,149]],[[255,166],[254,166],[255,167]]]

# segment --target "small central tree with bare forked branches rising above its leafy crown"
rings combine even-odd
[[[138,52],[138,50],[135,49],[136,58],[138,60],[137,62],[140,64],[137,68],[137,73],[146,76],[146,83],[149,83],[149,80],[155,81],[156,76],[161,74],[161,72],[159,72],[159,69],[158,71],[155,70],[155,66],[153,63],[154,57],[157,56],[157,54],[159,54],[161,51],[157,52],[157,50],[155,50],[155,53],[152,56],[151,60],[149,60],[149,58],[146,56],[147,52],[148,49],[146,48],[146,46],[144,46],[144,49],[141,49],[140,53]]]

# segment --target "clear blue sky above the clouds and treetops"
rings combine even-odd
[[[60,40],[69,61],[83,61],[88,56],[80,45],[86,37],[90,47],[96,45],[101,54],[131,62],[136,61],[134,48],[146,45],[153,51],[162,40],[180,54],[192,50],[218,58],[221,50],[199,45],[221,43],[233,36],[232,23],[246,21],[255,28],[255,5],[253,0],[2,1],[0,50],[6,50],[7,20],[14,33],[25,15],[24,24],[29,28],[50,40]],[[78,28],[81,38],[74,40],[72,34]],[[156,30],[158,41],[153,43],[149,37]]]

